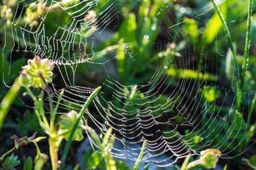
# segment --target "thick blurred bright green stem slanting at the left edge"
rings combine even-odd
[[[14,99],[16,98],[16,94],[21,89],[21,85],[18,83],[18,78],[14,81],[14,84],[11,86],[11,89],[7,92],[6,96],[4,96],[3,101],[1,101],[0,105],[0,131],[1,127],[4,124],[4,120],[6,118],[7,113],[10,110],[11,104],[14,103]]]

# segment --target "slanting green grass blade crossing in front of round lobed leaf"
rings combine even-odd
[[[76,120],[75,125],[71,131],[70,137],[68,138],[68,142],[65,145],[64,148],[64,152],[63,152],[63,157],[61,157],[61,162],[62,162],[62,167],[60,167],[60,169],[63,169],[63,167],[65,166],[65,159],[68,155],[68,149],[70,147],[71,144],[71,140],[73,139],[73,135],[75,133],[76,128],[78,128],[78,124],[82,118],[82,115],[85,114],[85,110],[87,109],[87,107],[89,106],[90,102],[92,101],[93,98],[95,98],[95,96],[98,94],[98,92],[100,91],[101,86],[97,87],[97,89],[95,89],[95,91],[92,91],[92,94],[90,94],[89,98],[87,99],[87,101],[85,102],[85,105],[82,106],[82,109],[80,110],[80,113],[78,114],[78,120]]]

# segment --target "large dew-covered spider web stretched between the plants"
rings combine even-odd
[[[246,22],[247,1],[215,3],[229,26]],[[65,89],[59,114],[79,112],[102,86],[85,118],[103,135],[113,128],[122,146],[112,148],[114,157],[136,160],[144,140],[142,162],[157,167],[209,148],[220,149],[223,159],[245,152],[239,148],[249,109],[235,113],[235,63],[210,0],[11,0],[6,6],[3,82],[16,77],[18,58],[48,58],[55,101]],[[245,40],[242,28],[235,31]],[[243,96],[252,101],[252,94]]]

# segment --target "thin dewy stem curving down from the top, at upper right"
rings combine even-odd
[[[239,84],[240,84],[240,71],[239,71],[239,67],[238,67],[238,60],[237,60],[237,57],[235,55],[235,48],[233,46],[233,42],[231,40],[231,35],[230,35],[230,32],[228,30],[228,26],[227,26],[227,23],[225,22],[225,19],[222,15],[222,13],[220,12],[220,9],[218,8],[218,6],[215,4],[215,1],[214,0],[210,0],[212,3],[213,3],[213,6],[215,8],[215,11],[218,13],[218,16],[220,18],[220,21],[223,25],[223,29],[225,31],[225,35],[226,37],[228,38],[228,44],[230,45],[230,50],[233,54],[233,58],[234,58],[234,61],[235,61],[235,72],[236,72],[236,76],[237,76],[237,93],[238,93],[238,96],[240,96],[240,89],[239,89]],[[240,99],[237,98],[237,108],[238,108],[238,104],[239,104],[239,101]],[[239,108],[238,108],[239,109]]]

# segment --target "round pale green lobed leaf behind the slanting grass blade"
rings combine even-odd
[[[70,111],[66,115],[61,115],[60,119],[61,120],[58,123],[58,125],[60,126],[60,128],[58,130],[58,134],[63,136],[65,138],[65,140],[68,140],[68,137],[70,137],[70,134],[75,125],[75,122],[76,122],[76,120],[78,120],[78,113],[76,113],[75,111]],[[82,128],[81,128],[82,124],[83,124],[83,121],[80,120],[80,122],[78,124],[78,128],[75,130],[72,140],[80,141],[83,139]]]

